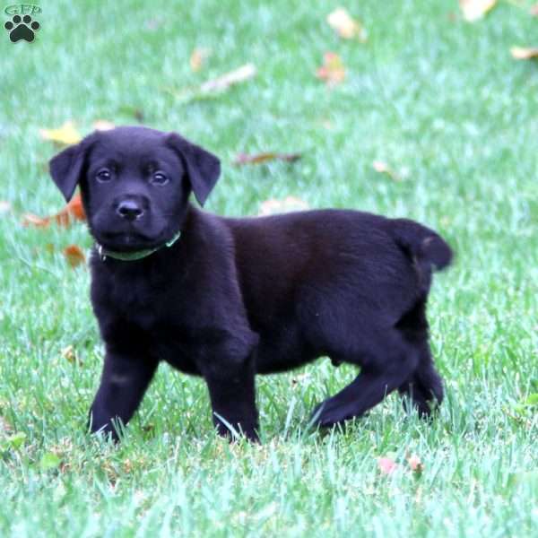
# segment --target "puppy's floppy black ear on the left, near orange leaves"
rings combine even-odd
[[[71,200],[84,167],[86,155],[91,147],[93,135],[87,136],[81,143],[69,146],[63,152],[59,152],[48,162],[51,177],[56,183],[65,200]]]

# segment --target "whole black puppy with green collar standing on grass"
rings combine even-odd
[[[78,185],[97,244],[91,302],[106,343],[91,430],[117,437],[160,360],[203,376],[221,434],[257,438],[256,373],[326,355],[360,375],[317,424],[358,417],[398,389],[421,414],[443,389],[425,309],[447,243],[413,221],[321,210],[230,219],[204,213],[220,162],[178,134],[97,132],[50,161]]]

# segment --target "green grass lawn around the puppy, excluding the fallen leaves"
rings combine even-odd
[[[538,45],[538,20],[530,2],[500,2],[474,24],[456,0],[350,2],[369,30],[360,45],[326,24],[338,4],[58,0],[43,3],[34,43],[0,36],[0,200],[13,206],[0,215],[0,535],[536,534],[538,413],[522,404],[538,392],[538,65],[508,50]],[[195,47],[213,50],[197,74]],[[315,77],[327,50],[348,71],[333,90]],[[166,91],[247,62],[256,78],[216,99]],[[91,239],[82,225],[20,222],[62,205],[46,168],[56,149],[39,128],[72,119],[85,134],[96,119],[135,123],[136,109],[221,156],[215,213],[296,195],[447,237],[456,263],[429,310],[447,388],[437,420],[406,417],[390,396],[346,432],[308,430],[314,404],[353,376],[319,360],[260,377],[264,444],[230,446],[213,432],[204,383],[163,365],[120,446],[87,435],[102,346],[89,275],[61,250]],[[232,165],[262,151],[304,157]],[[380,456],[395,473],[379,472]]]

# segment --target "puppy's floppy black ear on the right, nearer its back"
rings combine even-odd
[[[178,152],[187,165],[187,176],[198,204],[204,205],[221,175],[221,161],[200,146],[189,142],[177,133],[169,133],[166,144]]]

